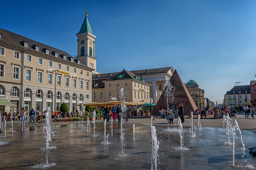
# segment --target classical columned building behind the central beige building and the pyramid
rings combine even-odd
[[[143,79],[146,83],[149,84],[149,99],[147,100],[147,103],[157,103],[165,88],[166,82],[169,81],[170,77],[172,77],[174,73],[174,68],[164,67],[155,69],[134,70],[130,72],[135,74],[138,78]],[[118,72],[94,74],[93,83],[94,81],[95,83],[97,83],[97,80],[99,79],[107,79],[116,74],[118,74]]]

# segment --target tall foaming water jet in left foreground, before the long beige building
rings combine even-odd
[[[52,130],[52,121],[50,116],[51,108],[47,107],[46,117],[45,117],[45,124],[44,129],[46,129],[46,164],[48,164],[48,148],[49,148],[49,141],[51,141],[51,136],[54,136],[54,131]]]

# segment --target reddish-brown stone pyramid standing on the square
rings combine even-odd
[[[178,74],[177,70],[174,71],[174,74],[170,78],[170,85],[174,87],[173,91],[173,100],[168,101],[168,106],[172,110],[178,110],[180,103],[184,106],[184,114],[190,115],[191,111],[195,111],[197,109],[197,106],[195,102],[193,101],[191,95],[189,94],[189,91],[187,90],[186,86],[184,85],[180,75]],[[159,110],[162,108],[164,110],[167,110],[167,101],[165,97],[166,87],[164,88],[164,91],[162,95],[160,96],[159,100],[157,101],[152,113],[154,115],[160,115]]]

